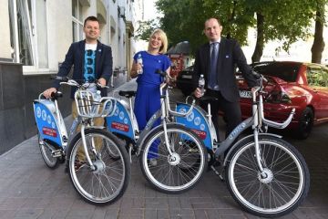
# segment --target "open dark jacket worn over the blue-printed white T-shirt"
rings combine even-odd
[[[84,60],[85,60],[85,46],[86,41],[82,40],[76,43],[71,44],[68,49],[67,55],[65,57],[65,61],[62,63],[61,67],[59,68],[57,76],[59,77],[66,77],[72,68],[73,69],[73,79],[76,79],[78,83],[83,82],[83,75],[84,75]],[[96,78],[105,78],[108,82],[110,76],[113,72],[113,57],[111,48],[97,42],[97,50],[96,50],[96,65],[95,65],[95,74]],[[54,88],[59,88],[59,80],[55,80]],[[77,88],[71,89],[71,98],[74,98],[74,93]],[[107,96],[107,89],[101,90],[101,96]]]

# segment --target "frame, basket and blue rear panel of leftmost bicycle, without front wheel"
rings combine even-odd
[[[67,152],[67,145],[70,141],[70,137],[77,133],[78,125],[81,124],[81,136],[83,147],[87,151],[87,142],[85,139],[85,130],[89,128],[99,128],[92,124],[92,119],[95,117],[106,117],[109,113],[115,111],[115,99],[101,98],[97,104],[93,104],[95,101],[90,91],[86,90],[83,85],[79,85],[75,80],[68,80],[67,82],[61,82],[61,84],[67,84],[69,86],[77,87],[75,93],[75,100],[77,103],[77,118],[73,120],[69,133],[63,117],[58,108],[57,99],[42,99],[43,94],[41,93],[33,103],[36,126],[40,133],[40,140],[46,141],[56,148],[56,151],[52,151],[54,157],[65,156]],[[103,107],[100,108],[100,103]],[[95,143],[92,142],[93,151],[96,153]],[[87,161],[91,168],[93,164],[91,162],[88,152],[86,152]]]

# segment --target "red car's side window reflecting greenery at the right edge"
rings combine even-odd
[[[325,68],[308,68],[306,78],[310,86],[328,86],[328,71]]]

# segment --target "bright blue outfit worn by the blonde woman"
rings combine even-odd
[[[163,82],[163,78],[156,73],[156,70],[166,71],[170,67],[170,60],[166,55],[154,56],[146,51],[138,52],[133,57],[135,60],[139,53],[142,57],[143,73],[137,78],[138,88],[134,113],[138,121],[138,129],[143,130],[151,116],[160,109],[159,86]],[[160,120],[157,120],[153,126],[156,127],[159,124]],[[156,152],[157,150],[150,148],[150,151]],[[148,157],[154,156],[149,154]]]

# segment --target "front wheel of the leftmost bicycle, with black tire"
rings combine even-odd
[[[96,205],[116,202],[125,193],[130,180],[130,163],[128,152],[118,143],[118,139],[105,130],[85,130],[87,150],[96,170],[91,170],[87,158],[78,158],[79,148],[83,148],[81,133],[78,133],[71,141],[67,151],[67,170],[69,178],[77,193],[87,201]],[[101,147],[97,149],[97,155],[91,151],[90,141],[93,138],[101,141]],[[110,149],[108,149],[110,147]],[[112,158],[112,152],[119,155]],[[80,155],[79,155],[80,156]],[[81,164],[77,167],[77,163]]]

